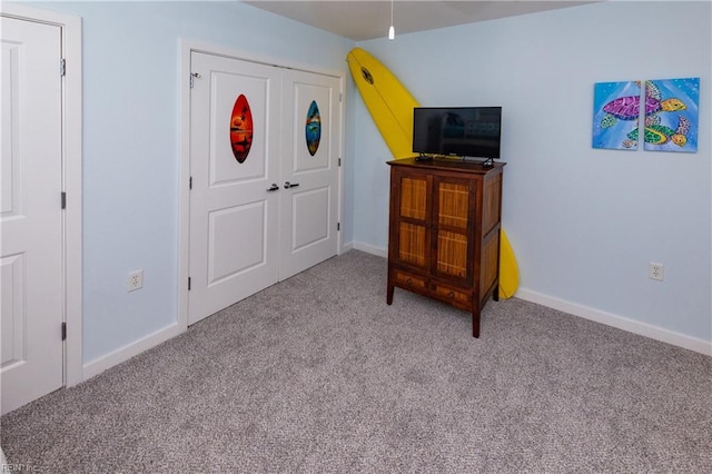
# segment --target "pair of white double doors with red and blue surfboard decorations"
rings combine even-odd
[[[190,51],[188,325],[337,254],[342,85]]]

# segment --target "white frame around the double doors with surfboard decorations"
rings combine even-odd
[[[290,63],[281,59],[270,59],[264,56],[250,55],[245,51],[226,48],[216,45],[208,45],[194,40],[180,40],[180,178],[178,197],[178,328],[188,328],[188,277],[190,260],[190,56],[192,52],[206,55],[224,56],[240,61],[257,62],[261,65],[275,66],[286,69],[297,69],[306,72],[314,72],[324,76],[332,76],[339,80],[339,118],[340,129],[337,131],[339,138],[339,160],[338,167],[338,221],[344,216],[344,120],[345,116],[345,76],[342,71],[319,70],[304,65]],[[336,255],[344,251],[343,231],[337,233]]]

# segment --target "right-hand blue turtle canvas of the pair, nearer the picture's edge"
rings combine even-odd
[[[698,151],[700,78],[645,82],[644,149]]]

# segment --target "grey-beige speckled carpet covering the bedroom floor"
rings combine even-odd
[[[0,419],[50,473],[712,472],[712,358],[352,250]]]

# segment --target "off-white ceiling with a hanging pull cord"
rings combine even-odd
[[[390,26],[390,0],[243,1],[354,41],[385,38]],[[592,2],[568,0],[395,0],[393,16],[397,36]]]

